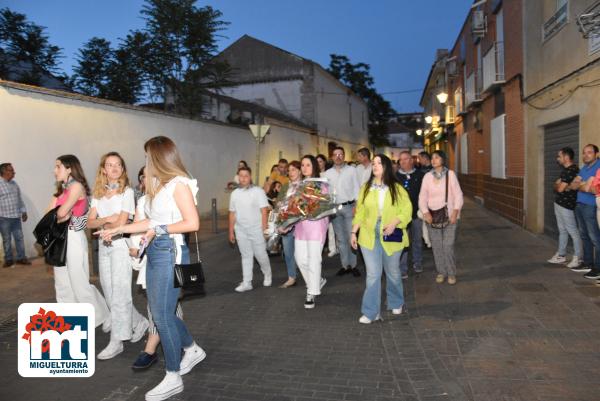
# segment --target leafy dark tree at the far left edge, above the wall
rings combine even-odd
[[[46,28],[24,14],[0,9],[0,77],[40,85],[44,74],[58,74],[61,49],[50,44]]]

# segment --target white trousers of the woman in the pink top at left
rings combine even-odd
[[[109,318],[108,306],[100,291],[90,284],[88,242],[85,232],[68,230],[67,265],[54,266],[56,302],[89,303],[96,312],[98,327]]]

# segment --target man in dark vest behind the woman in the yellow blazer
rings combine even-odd
[[[413,158],[409,152],[400,153],[399,160],[400,169],[396,172],[396,177],[408,192],[413,206],[412,222],[408,227],[413,269],[415,273],[421,273],[423,271],[423,241],[421,240],[423,237],[423,222],[417,217],[417,212],[419,210],[419,192],[425,173],[415,169]],[[402,271],[402,278],[408,278],[408,249],[405,249],[402,256],[400,256],[400,270]]]

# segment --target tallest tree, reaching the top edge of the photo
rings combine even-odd
[[[221,86],[228,75],[226,64],[211,61],[217,34],[228,23],[220,11],[195,2],[146,0],[141,11],[149,37],[150,95],[165,108],[172,100],[175,111],[190,115],[201,110],[202,89]]]

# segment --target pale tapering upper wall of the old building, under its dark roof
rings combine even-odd
[[[302,80],[277,81],[255,84],[243,84],[236,87],[221,88],[226,96],[240,100],[260,103],[262,100],[267,106],[284,111],[296,118],[301,118],[301,93]]]

